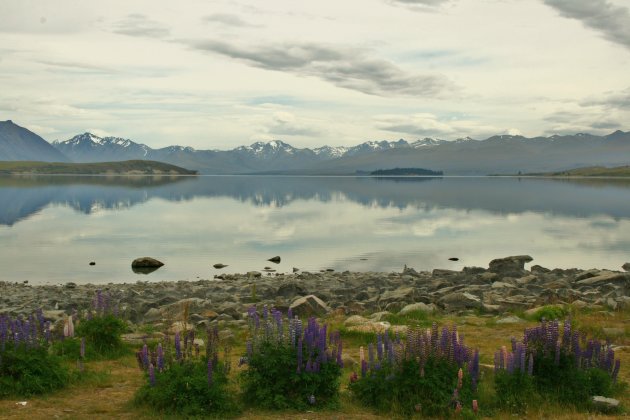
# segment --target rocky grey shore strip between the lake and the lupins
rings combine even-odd
[[[482,310],[503,313],[546,304],[618,309],[630,306],[630,264],[625,271],[548,269],[527,255],[490,262],[488,268],[418,272],[300,272],[266,275],[225,274],[193,282],[137,282],[108,285],[31,286],[0,283],[0,313],[30,314],[42,308],[57,320],[89,308],[97,290],[118,302],[130,322],[161,323],[183,319],[191,324],[245,323],[253,303],[295,312],[345,315],[420,309],[452,313]],[[410,306],[413,305],[413,306]]]

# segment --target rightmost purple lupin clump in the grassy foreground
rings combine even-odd
[[[591,396],[611,396],[620,386],[614,350],[573,331],[570,319],[562,332],[558,321],[526,329],[522,341],[512,338],[512,351],[504,346],[494,359],[497,400],[512,411],[542,398],[586,408]]]

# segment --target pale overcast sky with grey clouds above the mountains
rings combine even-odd
[[[2,0],[0,120],[295,147],[630,129],[630,0]]]

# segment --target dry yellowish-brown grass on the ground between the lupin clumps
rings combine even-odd
[[[574,325],[594,332],[601,338],[604,328],[617,328],[623,334],[616,335],[613,342],[621,346],[616,350],[617,357],[621,359],[621,371],[619,378],[630,382],[630,334],[626,325],[630,325],[630,311],[584,311],[570,308]],[[526,320],[517,324],[497,324],[496,319],[505,317],[506,314],[496,317],[471,315],[444,315],[438,319],[440,324],[457,324],[458,331],[465,337],[466,344],[473,348],[479,348],[482,363],[483,392],[492,394],[492,367],[493,354],[501,345],[508,345],[510,337],[521,337],[524,328],[537,324],[534,320]],[[339,329],[345,318],[340,315],[327,319],[332,329]],[[429,322],[422,316],[412,315],[407,319],[392,317],[397,322]],[[391,321],[390,321],[391,322]],[[374,335],[369,333],[357,333],[341,328],[344,338],[344,352],[359,359],[359,346],[366,345],[374,340]],[[605,335],[605,334],[604,334]],[[203,336],[203,335],[201,335]],[[238,368],[238,358],[244,352],[244,336],[240,331],[235,331],[236,345],[232,351],[232,373],[237,375],[244,367]],[[483,365],[489,365],[484,367]],[[16,405],[18,399],[0,400],[0,418],[2,419],[154,419],[175,418],[164,417],[144,409],[133,407],[131,400],[136,390],[143,383],[143,374],[138,369],[135,356],[128,354],[116,360],[94,360],[85,364],[89,372],[93,372],[79,384],[49,394],[45,397],[30,398],[26,406]],[[297,412],[297,411],[265,411],[245,410],[240,418],[243,419],[379,419],[389,416],[379,416],[369,409],[358,405],[347,392],[349,375],[352,369],[346,367],[342,375],[341,399],[339,408],[334,411]],[[630,408],[630,392],[617,397],[621,404]],[[24,401],[24,400],[22,400]],[[482,407],[483,409],[483,407]],[[485,412],[485,415],[494,419],[513,419],[510,413],[493,411]],[[543,402],[537,407],[530,407],[527,413],[519,418],[553,418],[553,419],[589,419],[589,418],[618,418],[615,415],[580,413],[572,408]]]

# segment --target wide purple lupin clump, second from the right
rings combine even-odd
[[[405,340],[385,333],[360,349],[361,375],[351,377],[350,390],[363,404],[399,415],[421,412],[448,416],[472,413],[479,380],[479,352],[463,343],[455,326],[438,332],[410,329]],[[475,411],[477,402],[474,403]]]

